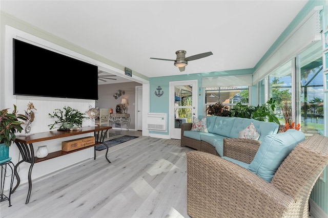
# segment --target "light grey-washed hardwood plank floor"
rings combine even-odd
[[[117,132],[117,130],[111,130]],[[121,132],[138,135],[140,132]],[[1,217],[190,217],[187,160],[179,140],[140,136],[105,150],[97,159],[33,181],[0,204]],[[37,163],[40,164],[40,163]]]

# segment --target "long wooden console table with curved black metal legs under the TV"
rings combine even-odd
[[[30,201],[30,195],[31,195],[31,190],[32,190],[32,180],[31,180],[31,175],[32,175],[32,168],[34,163],[42,162],[45,160],[49,160],[52,158],[60,157],[63,155],[68,155],[71,154],[72,152],[76,152],[79,150],[87,149],[90,147],[94,147],[94,160],[96,159],[96,145],[103,144],[105,140],[106,133],[109,129],[111,129],[111,126],[87,126],[87,127],[82,127],[79,130],[72,130],[72,131],[50,131],[50,132],[43,132],[43,133],[35,133],[33,135],[29,136],[16,136],[15,143],[19,149],[20,155],[22,155],[22,160],[19,161],[16,166],[14,167],[14,173],[17,178],[17,184],[16,186],[12,189],[11,193],[14,193],[16,188],[18,187],[20,183],[20,178],[17,172],[17,167],[19,164],[23,162],[30,163],[30,169],[29,169],[29,175],[28,175],[28,180],[29,180],[29,190],[27,193],[27,198],[25,204],[28,204]],[[34,148],[33,148],[33,143],[35,142],[42,142],[42,141],[47,141],[47,140],[52,140],[52,139],[59,139],[59,138],[65,138],[69,136],[76,136],[76,135],[81,135],[81,134],[86,134],[86,133],[94,133],[95,135],[95,140],[96,143],[94,145],[89,145],[86,147],[82,147],[79,149],[71,150],[71,151],[62,151],[58,150],[55,152],[51,152],[47,155],[45,158],[37,158],[34,156]],[[105,144],[106,145],[106,144]],[[108,154],[108,146],[107,151],[106,151],[106,159],[109,163],[110,160],[107,158]]]

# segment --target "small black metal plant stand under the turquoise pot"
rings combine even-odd
[[[8,200],[9,207],[11,207],[10,197],[11,197],[12,185],[14,183],[15,165],[11,162],[11,158],[7,158],[5,160],[0,161],[0,166],[1,166],[0,202]],[[6,175],[7,175],[7,166],[9,166],[11,169],[11,176],[10,176],[11,179],[10,179],[10,188],[9,188],[8,197],[7,197],[7,195],[4,194],[5,180],[6,180]]]

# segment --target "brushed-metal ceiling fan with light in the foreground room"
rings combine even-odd
[[[170,61],[174,61],[174,65],[176,67],[179,68],[180,72],[185,71],[185,67],[188,65],[188,61],[190,60],[197,60],[203,57],[207,57],[212,55],[212,52],[205,52],[205,53],[201,53],[201,54],[196,54],[190,57],[186,57],[186,51],[185,50],[178,50],[175,52],[176,54],[176,59],[172,60],[172,59],[163,59],[163,58],[155,58],[155,57],[151,57],[150,59],[156,59],[156,60],[170,60]]]

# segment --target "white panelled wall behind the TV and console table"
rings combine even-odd
[[[14,96],[12,94],[12,39],[16,38],[19,40],[24,41],[31,41],[33,43],[37,43],[39,45],[42,45],[44,47],[47,47],[49,49],[53,49],[62,53],[65,53],[69,56],[96,64],[97,66],[103,68],[103,69],[109,69],[111,72],[115,72],[118,74],[124,75],[124,71],[116,69],[112,66],[109,66],[108,64],[105,64],[103,62],[97,61],[95,59],[92,59],[90,57],[87,57],[85,55],[79,54],[77,52],[71,51],[69,49],[66,49],[64,47],[58,46],[55,43],[52,43],[50,41],[47,41],[45,39],[39,38],[35,35],[29,34],[27,32],[24,32],[22,30],[15,29],[13,27],[10,27],[8,25],[2,24],[2,30],[5,29],[5,34],[1,34],[1,81],[0,81],[0,91],[1,91],[1,99],[0,99],[0,105],[1,108],[13,108],[13,104],[17,105],[18,111],[22,114],[25,113],[25,110],[27,109],[28,102],[33,102],[35,108],[37,109],[34,111],[35,113],[35,119],[32,122],[32,129],[31,133],[39,133],[39,132],[47,132],[49,131],[48,125],[53,123],[52,118],[49,117],[49,113],[52,113],[55,108],[63,108],[64,106],[71,106],[73,108],[76,108],[80,112],[86,112],[89,110],[89,105],[92,107],[95,106],[94,100],[83,100],[83,99],[64,99],[64,98],[47,98],[47,97],[28,97],[28,96]],[[5,38],[3,38],[5,37]],[[51,38],[51,37],[50,37]],[[26,89],[28,89],[28,73],[26,75]],[[45,78],[40,78],[40,82],[43,82],[43,80],[48,79],[51,80],[51,78],[48,78],[45,73]],[[149,82],[147,80],[144,80],[139,77],[132,78],[137,81],[145,82],[148,84]],[[60,86],[60,84],[52,84],[53,89],[62,89],[63,87]],[[148,111],[148,110],[145,110]],[[92,120],[85,120],[83,123],[83,126],[88,126],[90,124],[93,124]],[[56,139],[56,140],[49,140],[44,142],[38,142],[34,143],[34,151],[36,151],[38,146],[41,145],[47,145],[49,152],[61,150],[61,141],[71,140],[75,138],[85,137],[92,134],[86,134],[86,135],[80,135],[80,136],[74,136],[74,137],[67,137],[65,139]],[[50,159],[47,161],[39,162],[34,164],[33,171],[32,171],[32,180],[40,177],[44,177],[52,172],[55,172],[57,170],[66,168],[71,166],[72,164],[84,161],[89,158],[93,158],[93,148],[81,150],[78,152],[74,152],[69,155],[60,156],[54,159]],[[19,155],[19,150],[15,144],[12,144],[10,146],[9,150],[9,156],[12,157],[12,162],[14,164],[17,164],[19,160],[22,158]],[[105,160],[105,159],[104,159]],[[30,168],[29,163],[22,163],[19,165],[18,173],[20,176],[20,184],[23,186],[26,186],[28,182],[28,171]],[[16,184],[16,180],[14,182],[14,185]],[[22,187],[22,186],[20,186]],[[20,188],[18,187],[18,189]],[[7,187],[8,188],[8,185]],[[6,189],[5,188],[5,189]]]

